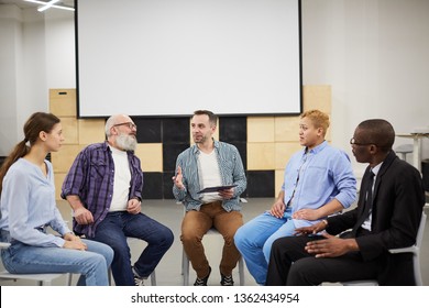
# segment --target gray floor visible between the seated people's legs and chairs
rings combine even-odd
[[[262,211],[268,209],[274,201],[273,198],[253,198],[249,199],[246,204],[243,204],[243,217],[244,221],[252,219]],[[63,213],[65,220],[70,221],[70,210],[66,202],[61,201],[58,207]],[[172,249],[166,253],[164,258],[161,261],[160,265],[156,268],[156,279],[158,286],[175,286],[182,285],[182,243],[179,240],[179,229],[183,217],[183,206],[176,205],[175,200],[144,200],[143,201],[143,211],[151,216],[152,218],[158,220],[160,222],[168,226],[174,234],[175,242]],[[426,213],[429,216],[429,209],[426,209]],[[429,224],[427,224],[429,226]],[[222,246],[221,237],[208,237],[204,240],[206,253],[209,258],[210,265],[213,268],[213,272],[208,282],[209,285],[218,286],[220,282],[220,274],[217,268],[219,267],[219,258]],[[424,244],[420,251],[420,264],[422,272],[422,280],[426,286],[429,286],[429,227],[425,230]],[[144,243],[133,242],[132,243],[132,255],[136,256],[139,251],[144,246]],[[245,266],[244,266],[245,267]],[[255,286],[255,282],[252,276],[249,274],[245,268],[245,285]],[[239,276],[237,270],[234,270],[234,280],[238,284]],[[74,275],[74,283],[76,282],[76,276]],[[195,280],[194,271],[190,270],[189,282]],[[65,285],[66,277],[63,276],[53,282],[53,285]],[[29,280],[19,280],[19,282],[0,282],[0,285],[34,285],[33,282]],[[150,285],[150,282],[147,282]]]

